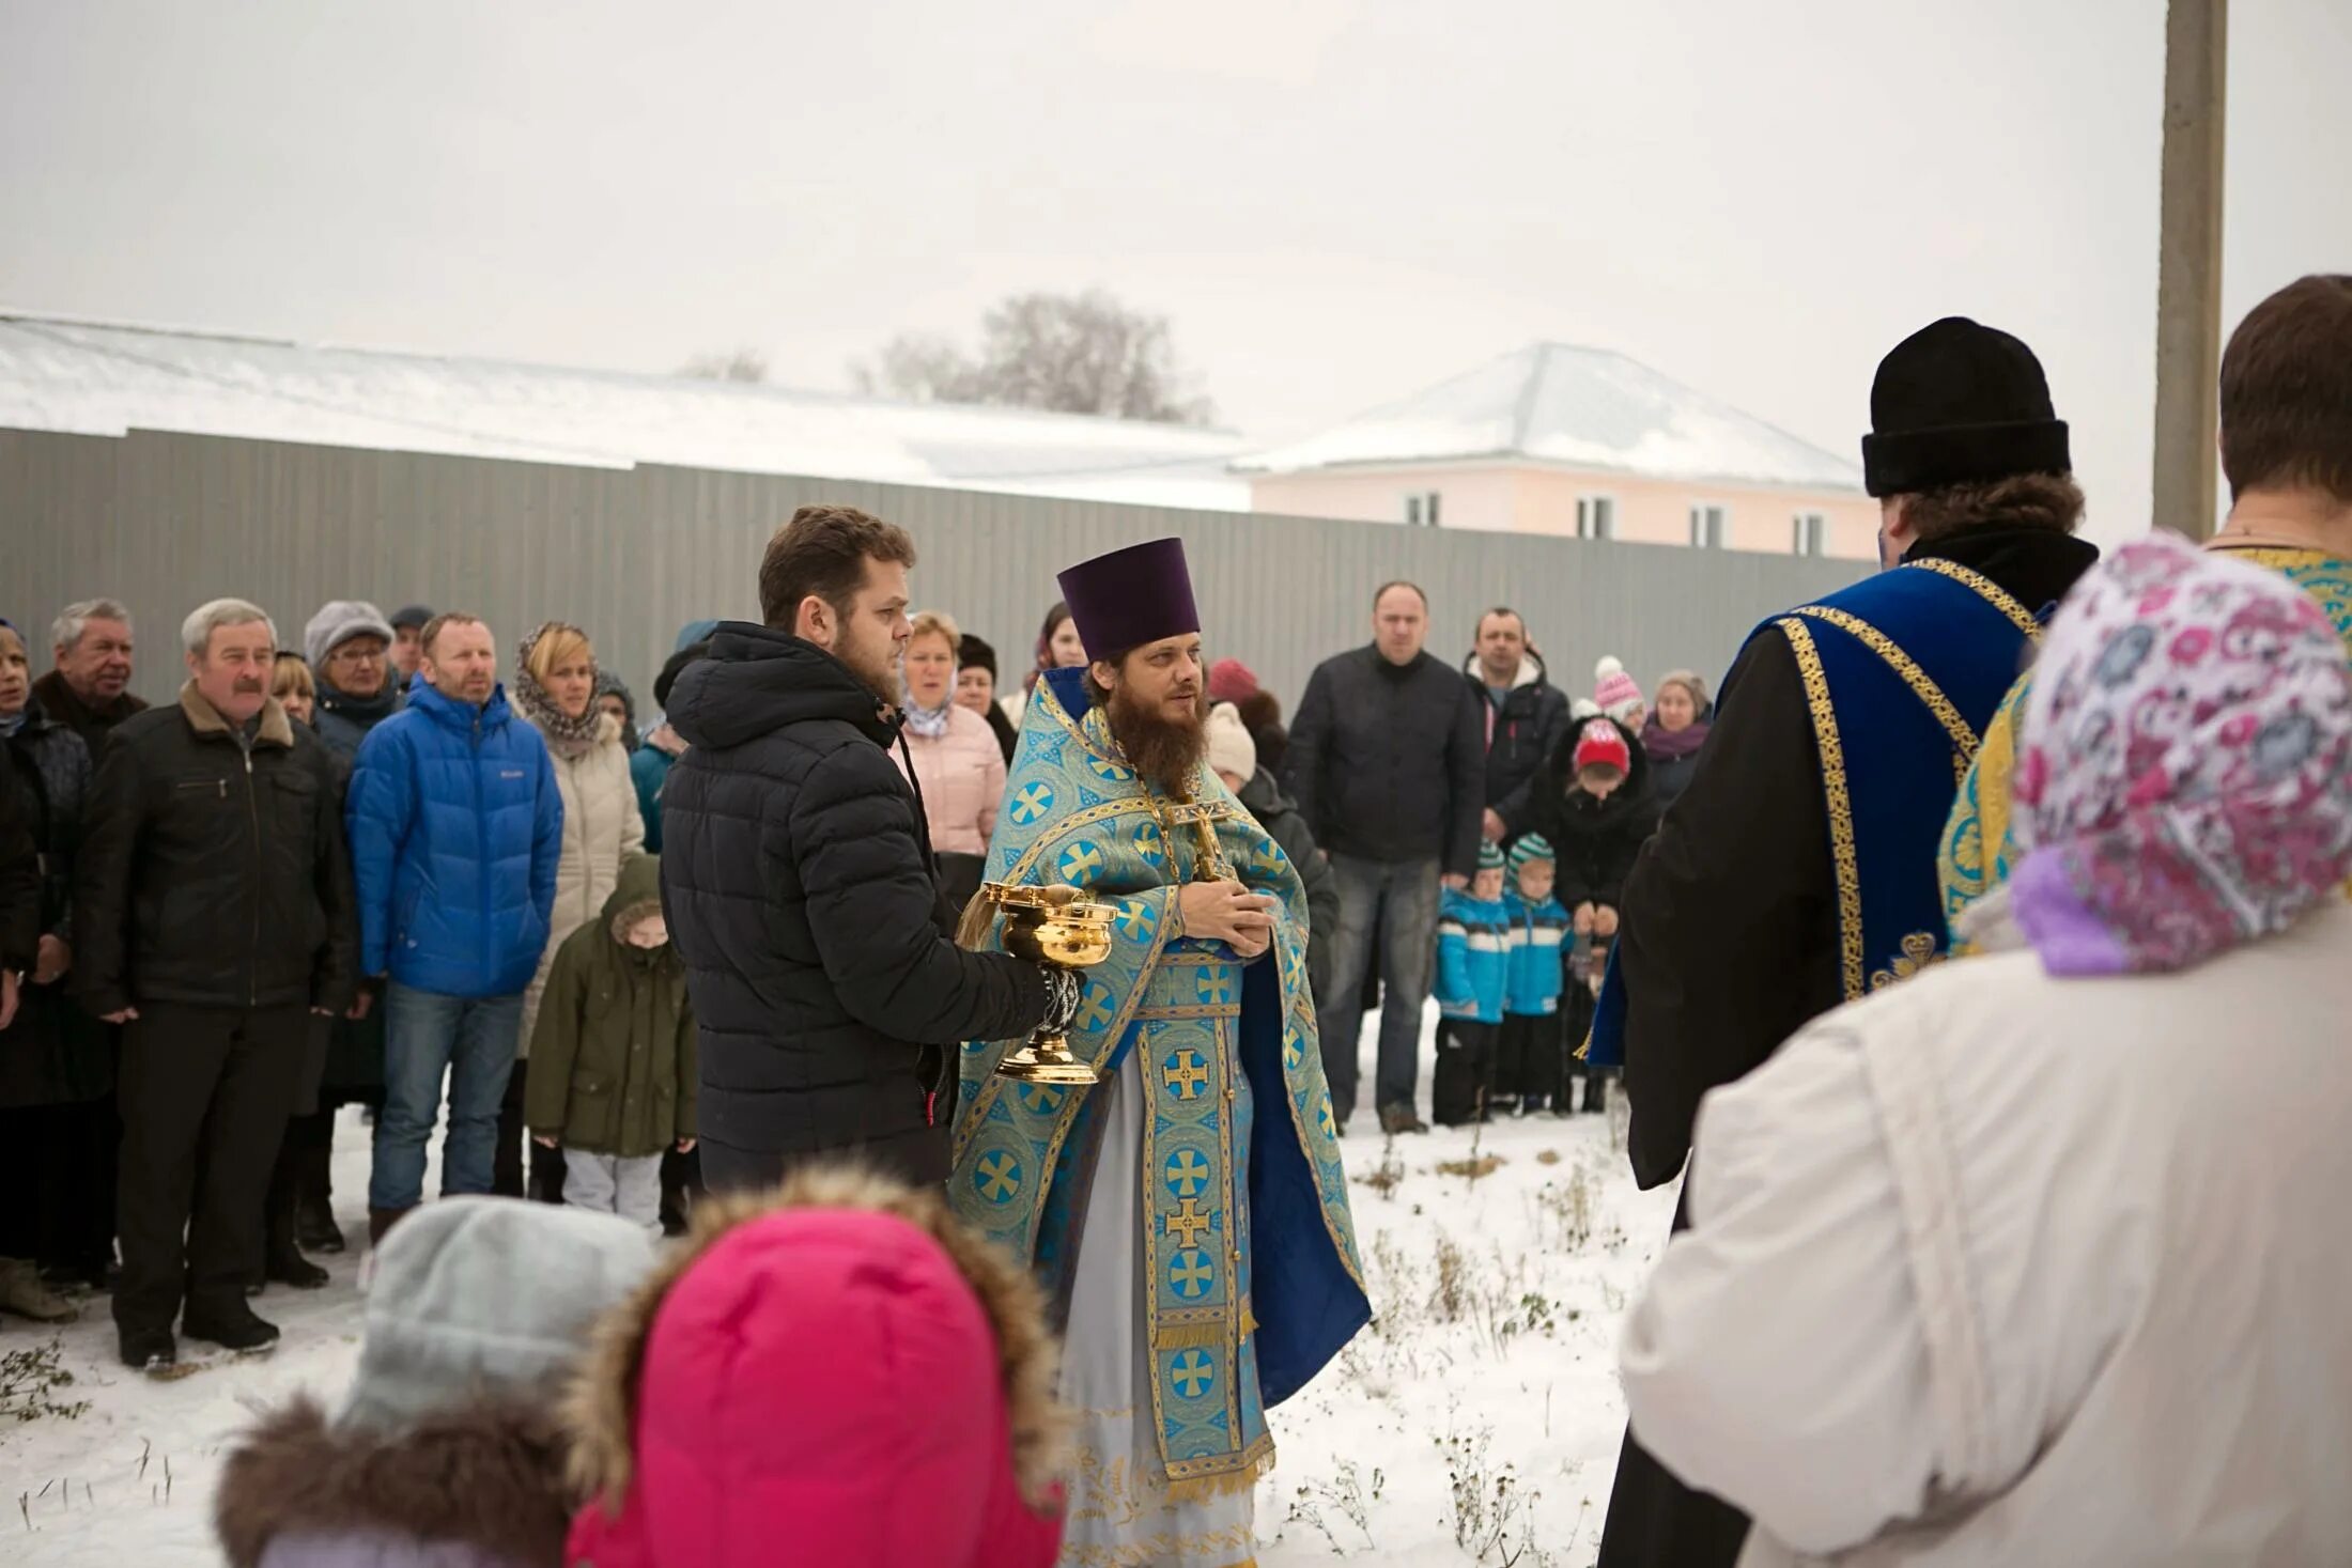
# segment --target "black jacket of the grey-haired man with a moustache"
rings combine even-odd
[[[73,875],[82,1006],[350,1006],[360,922],[336,806],[334,757],[275,701],[252,750],[193,682],[115,726]]]

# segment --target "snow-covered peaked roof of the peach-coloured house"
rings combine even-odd
[[[1235,468],[1279,475],[1472,458],[1804,489],[1858,491],[1863,480],[1856,463],[1639,360],[1571,343],[1534,343]]]

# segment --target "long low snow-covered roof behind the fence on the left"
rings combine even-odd
[[[0,425],[670,463],[1249,510],[1230,430],[0,310]]]

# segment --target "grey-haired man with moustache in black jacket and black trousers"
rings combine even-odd
[[[148,1371],[172,1366],[183,1300],[191,1338],[278,1342],[245,1281],[261,1276],[308,1016],[341,1013],[358,980],[336,769],[270,698],[278,632],[214,599],[183,642],[179,703],[127,719],[99,755],[73,907],[82,1006],[129,1025],[115,1331]]]

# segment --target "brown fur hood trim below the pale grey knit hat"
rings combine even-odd
[[[230,1450],[212,1523],[230,1568],[259,1568],[263,1554],[270,1568],[397,1563],[390,1542],[454,1542],[482,1563],[555,1568],[572,1502],[562,1427],[546,1408],[475,1403],[383,1434],[329,1425],[315,1401],[296,1399]],[[355,1540],[379,1547],[360,1556]]]

